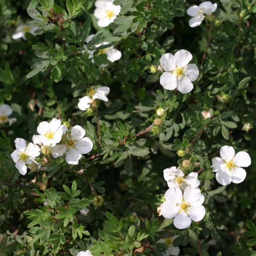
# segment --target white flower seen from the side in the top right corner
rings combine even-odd
[[[199,26],[204,20],[204,14],[210,15],[212,12],[215,12],[217,9],[217,3],[212,3],[210,1],[205,1],[199,6],[191,6],[187,9],[187,14],[192,16],[192,19],[189,20],[189,26],[192,28]]]

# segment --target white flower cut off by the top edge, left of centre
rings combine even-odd
[[[104,28],[108,26],[119,15],[121,6],[115,6],[113,1],[98,0],[95,2],[96,9],[94,10],[94,16],[99,19],[98,26]]]

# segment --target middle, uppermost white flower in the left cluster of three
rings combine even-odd
[[[37,127],[37,132],[40,135],[32,137],[33,143],[38,145],[55,146],[61,141],[62,129],[61,120],[52,118],[51,122],[43,121]]]

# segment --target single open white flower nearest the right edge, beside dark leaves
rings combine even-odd
[[[216,180],[221,185],[241,183],[246,177],[246,172],[241,167],[248,167],[251,159],[248,153],[240,151],[235,155],[235,149],[223,146],[220,150],[221,157],[212,159],[212,169],[216,172]]]

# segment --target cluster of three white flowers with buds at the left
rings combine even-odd
[[[79,163],[82,154],[89,153],[93,148],[93,142],[84,137],[85,131],[80,125],[74,126],[69,133],[68,128],[61,125],[61,120],[53,118],[51,122],[41,122],[37,131],[39,135],[32,137],[33,143],[26,145],[23,139],[15,140],[16,150],[11,156],[22,175],[26,174],[27,167],[32,162],[40,165],[35,161],[35,157],[38,157],[41,152],[50,153],[54,158],[67,153],[66,162],[75,165]]]

